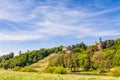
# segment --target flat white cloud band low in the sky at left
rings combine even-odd
[[[35,33],[1,33],[0,32],[0,41],[25,41],[25,40],[34,40],[34,39],[43,39],[42,34]]]

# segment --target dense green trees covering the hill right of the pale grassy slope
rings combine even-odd
[[[110,71],[111,68],[120,66],[120,39],[103,41],[102,46],[103,48],[99,50],[97,45],[76,44],[71,53],[62,51],[50,61],[49,66],[63,66],[70,68],[71,71],[99,72]]]

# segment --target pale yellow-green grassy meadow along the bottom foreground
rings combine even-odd
[[[116,77],[58,75],[0,70],[0,80],[120,80]]]

